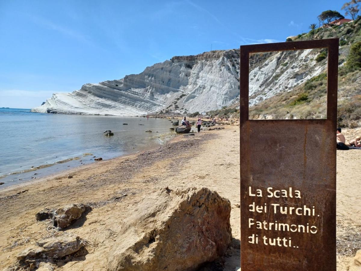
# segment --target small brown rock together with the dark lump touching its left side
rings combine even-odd
[[[52,219],[55,227],[64,229],[80,218],[86,209],[90,209],[90,207],[84,204],[71,203],[53,210],[45,208],[38,212],[35,217],[36,220]]]

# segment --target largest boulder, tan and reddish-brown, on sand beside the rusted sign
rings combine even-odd
[[[231,205],[208,188],[148,195],[122,225],[109,271],[197,270],[229,246]]]

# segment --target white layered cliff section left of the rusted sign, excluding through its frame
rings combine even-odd
[[[33,112],[135,116],[160,110],[218,109],[239,96],[239,50],[179,56],[122,79],[58,93]],[[177,107],[176,107],[177,105]]]

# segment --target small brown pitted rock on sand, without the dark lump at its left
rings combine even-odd
[[[80,218],[86,209],[84,204],[68,204],[52,211],[51,217],[54,226],[64,229],[68,227],[74,220]]]

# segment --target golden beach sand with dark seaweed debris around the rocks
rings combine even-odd
[[[18,252],[39,239],[72,233],[86,240],[88,254],[59,270],[104,270],[122,220],[138,202],[159,188],[196,186],[216,190],[231,202],[234,238],[222,262],[224,270],[234,271],[240,266],[239,126],[224,127],[195,136],[178,136],[153,151],[85,165],[0,190],[0,267],[13,264]],[[353,131],[346,131],[346,137],[348,133],[351,135]],[[355,248],[348,251],[346,242],[353,242],[357,233],[360,237],[360,161],[360,150],[337,152],[337,222],[341,248],[338,270],[349,270],[356,251]],[[74,177],[67,178],[69,174]],[[67,203],[87,203],[92,211],[65,232],[52,229],[49,221],[35,220],[36,212],[43,208]],[[360,249],[360,241],[352,244],[355,246]]]

